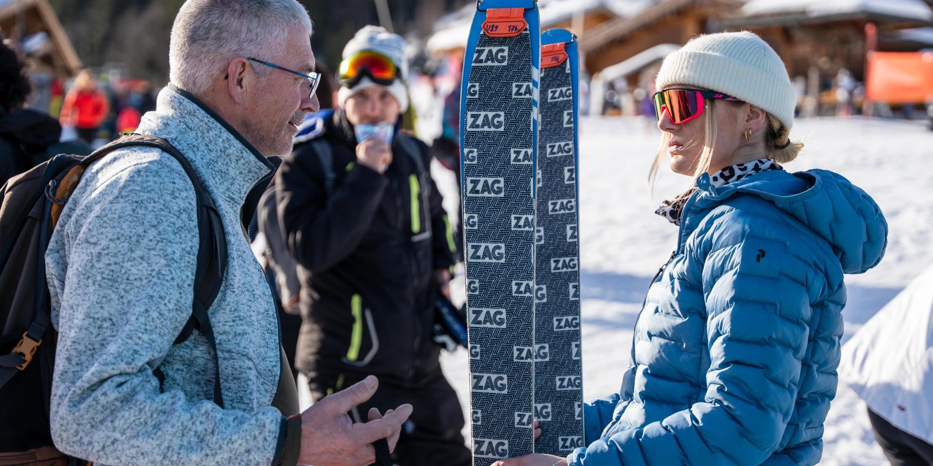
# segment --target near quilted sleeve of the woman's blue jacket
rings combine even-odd
[[[789,216],[729,207],[711,216],[695,244],[711,359],[703,402],[578,448],[570,465],[758,465],[780,444],[810,334],[815,269]]]

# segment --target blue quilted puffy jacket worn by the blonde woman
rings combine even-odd
[[[836,394],[843,273],[884,255],[874,201],[831,171],[703,174],[571,466],[813,465]]]

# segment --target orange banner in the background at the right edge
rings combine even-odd
[[[933,52],[869,52],[865,93],[885,103],[933,102]]]

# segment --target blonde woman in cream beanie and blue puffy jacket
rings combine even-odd
[[[842,176],[790,173],[794,90],[758,35],[701,35],[669,56],[654,103],[665,156],[695,183],[658,213],[674,254],[638,316],[620,393],[587,403],[566,459],[502,466],[813,465],[836,394],[843,273],[884,255],[887,225]],[[591,362],[598,364],[598,362]],[[837,409],[848,409],[839,406]],[[547,429],[547,426],[544,426]]]

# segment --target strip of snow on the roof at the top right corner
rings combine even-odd
[[[795,12],[812,18],[864,12],[933,21],[933,10],[923,0],[751,0],[742,7],[745,16]]]

